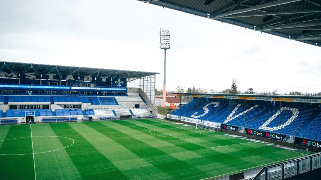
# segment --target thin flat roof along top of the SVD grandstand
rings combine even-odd
[[[207,96],[236,96],[236,97],[262,97],[262,98],[291,98],[291,99],[321,99],[321,96],[294,96],[294,95],[264,95],[264,94],[210,94],[210,93],[177,93],[169,92],[170,94],[182,95],[207,95]]]

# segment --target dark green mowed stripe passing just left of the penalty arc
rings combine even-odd
[[[175,179],[195,179],[196,176],[201,174],[206,175],[206,172],[112,128],[112,123],[101,124],[96,122],[86,123],[86,125],[113,139]]]

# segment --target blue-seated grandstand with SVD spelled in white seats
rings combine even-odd
[[[321,97],[319,96],[173,94],[198,96],[169,114],[176,119],[184,117],[199,122],[209,121],[231,125],[243,130],[247,128],[321,141],[319,133],[312,128],[317,127],[321,122]],[[209,96],[213,98],[208,98]]]

